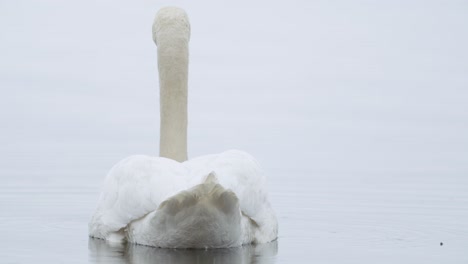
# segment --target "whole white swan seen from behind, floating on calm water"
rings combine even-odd
[[[228,248],[277,238],[266,178],[249,154],[187,160],[190,23],[160,9],[153,23],[160,86],[160,157],[134,155],[104,180],[89,236],[161,248]]]

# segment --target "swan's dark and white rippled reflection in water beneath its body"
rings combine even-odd
[[[91,263],[275,263],[278,242],[227,249],[165,249],[133,244],[109,244],[101,239],[88,242]]]

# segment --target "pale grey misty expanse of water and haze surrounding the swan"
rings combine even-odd
[[[165,5],[192,24],[189,156],[237,148],[262,163],[278,262],[468,259],[468,2],[17,0],[0,2],[7,263],[86,260],[107,170],[157,155],[151,24]],[[364,211],[384,216],[350,224]],[[37,248],[45,237],[60,239]],[[443,239],[453,251],[435,253]]]

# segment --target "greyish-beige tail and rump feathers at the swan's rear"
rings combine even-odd
[[[165,248],[234,247],[242,244],[241,217],[239,199],[218,184],[212,172],[203,183],[168,198],[158,210],[132,223],[128,235],[130,242]],[[151,236],[141,234],[143,230]]]

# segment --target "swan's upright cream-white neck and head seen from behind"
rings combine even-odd
[[[153,23],[158,46],[161,137],[159,155],[187,160],[187,82],[190,23],[184,10],[166,7]]]

